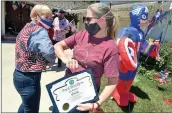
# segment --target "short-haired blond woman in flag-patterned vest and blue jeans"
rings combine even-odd
[[[27,23],[16,38],[13,82],[22,104],[19,113],[38,113],[41,95],[41,73],[54,63],[54,47],[50,40],[52,11],[46,5],[35,5]]]

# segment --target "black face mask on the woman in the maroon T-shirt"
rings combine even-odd
[[[100,31],[100,26],[97,23],[94,24],[88,24],[85,23],[85,29],[88,31],[90,35],[95,35]]]

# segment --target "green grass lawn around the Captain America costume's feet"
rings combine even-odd
[[[101,91],[106,84],[107,79],[102,78]],[[105,112],[172,112],[172,105],[166,106],[163,100],[172,99],[172,82],[158,88],[148,78],[137,75],[131,92],[136,94],[137,102],[130,103],[130,107],[121,108],[110,98],[101,107]]]

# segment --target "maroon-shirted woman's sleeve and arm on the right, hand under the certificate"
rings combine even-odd
[[[118,82],[119,54],[115,54],[113,56],[109,56],[109,55],[107,56],[104,63],[104,71],[105,71],[105,76],[108,78],[108,84],[105,86],[102,93],[100,94],[99,100],[96,103],[79,104],[77,108],[78,110],[88,111],[91,110],[92,107],[94,107],[94,109],[97,109],[99,105],[105,102],[112,94]]]

